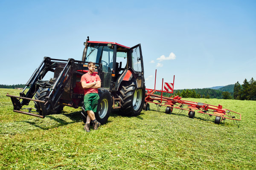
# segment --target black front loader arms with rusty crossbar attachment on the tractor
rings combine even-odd
[[[67,63],[53,62],[52,60],[66,61]],[[14,106],[13,111],[17,113],[23,113],[31,116],[44,118],[49,113],[49,110],[51,110],[51,108],[57,107],[58,102],[61,98],[61,94],[64,91],[65,85],[70,79],[71,74],[76,72],[77,66],[74,64],[74,61],[74,59],[60,60],[44,57],[43,62],[41,62],[40,66],[35,70],[29,81],[26,83],[26,87],[24,88],[24,90],[20,92],[20,96],[13,96],[9,94],[6,95],[11,97],[12,104]],[[64,66],[64,69],[61,71],[53,85],[49,84],[49,82],[43,82],[38,80],[38,77],[40,77],[40,79],[43,79],[48,71],[52,71],[53,68],[56,68],[58,66]],[[49,87],[49,96],[47,96],[45,100],[32,99],[38,91],[38,88],[42,86]],[[30,87],[29,91],[24,94],[24,91],[27,87]],[[22,101],[20,102],[21,99]],[[38,102],[41,106],[44,105],[44,107],[41,107],[41,109],[39,109],[38,114],[32,113],[36,112],[32,111],[33,108],[22,108],[23,105],[29,105],[30,101]],[[23,109],[28,109],[29,111],[20,111]]]

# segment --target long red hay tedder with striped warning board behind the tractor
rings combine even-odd
[[[156,71],[157,74],[157,71]],[[155,77],[156,77],[155,74]],[[173,94],[173,87],[174,87],[174,78],[173,77],[173,83],[165,83],[164,89],[163,89],[163,79],[162,79],[162,90],[156,90],[155,86],[154,89],[148,89],[146,88],[146,93],[145,93],[145,103],[143,105],[143,109],[145,111],[149,110],[149,104],[148,103],[154,103],[157,105],[157,110],[159,111],[160,106],[166,106],[166,111],[165,113],[172,113],[173,109],[180,109],[179,112],[182,111],[188,111],[188,116],[189,118],[194,118],[195,117],[195,111],[198,110],[198,113],[202,113],[205,115],[205,118],[207,121],[211,118],[211,116],[216,116],[215,117],[215,123],[219,124],[221,121],[224,121],[226,119],[232,119],[233,121],[241,120],[241,114],[237,113],[235,111],[231,111],[226,108],[222,108],[222,105],[209,105],[206,103],[201,103],[201,102],[191,102],[191,101],[186,101],[182,100],[180,96],[171,96],[171,97],[166,97],[163,96],[163,93],[170,93]],[[155,79],[156,83],[156,79]],[[161,95],[155,94],[156,92],[160,92]],[[236,118],[236,116],[238,118]],[[237,124],[238,125],[238,124]]]

